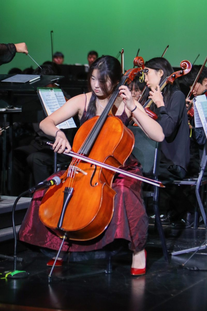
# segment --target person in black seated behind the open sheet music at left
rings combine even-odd
[[[56,75],[54,71],[53,63],[48,65],[41,65],[41,68],[36,68],[33,74],[36,75]],[[56,87],[56,85],[50,84],[46,87]],[[70,97],[69,97],[70,98]],[[39,105],[39,99],[36,100]],[[29,103],[34,105],[36,102],[34,99],[29,97]],[[17,148],[14,149],[14,160],[13,160],[13,186],[12,195],[20,195],[23,191],[29,188],[29,182],[32,179],[33,184],[38,184],[44,179],[49,177],[53,172],[54,155],[49,146],[42,146],[41,140],[53,140],[53,137],[45,135],[39,128],[38,123],[32,123],[32,134],[29,132],[29,137],[25,142],[21,142]],[[75,130],[75,129],[74,129]],[[74,131],[68,129],[66,131],[70,140],[73,141]],[[19,137],[17,138],[17,141]],[[68,162],[65,155],[58,156],[58,163]],[[31,173],[30,176],[28,171]],[[19,183],[16,183],[19,180]]]

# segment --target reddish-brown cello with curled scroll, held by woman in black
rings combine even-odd
[[[192,65],[188,60],[183,60],[180,63],[180,67],[182,68],[182,70],[173,72],[169,77],[166,77],[164,79],[164,81],[160,84],[160,91],[162,91],[167,84],[169,84],[169,83],[173,84],[175,79],[177,79],[178,77],[182,77],[182,76],[186,75],[188,72],[190,72]],[[143,107],[145,108],[146,111],[149,109],[149,107],[151,106],[152,103],[153,103],[152,99],[148,99],[146,101],[146,103],[143,105]]]

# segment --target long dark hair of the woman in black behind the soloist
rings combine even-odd
[[[163,70],[163,76],[161,77],[160,84],[164,81],[166,77],[169,77],[174,72],[173,67],[170,65],[169,61],[163,57],[155,57],[155,58],[150,59],[148,62],[145,63],[145,67],[154,69],[156,71],[159,71],[160,69]],[[162,95],[164,98],[165,107],[167,106],[172,93],[176,89],[179,90],[179,84],[177,80],[174,81],[173,85],[169,83],[164,87],[162,91]],[[142,105],[145,104],[146,101],[148,100],[149,91],[150,90],[147,87],[145,94],[143,96],[142,102],[141,102]],[[156,108],[156,105],[153,103],[150,109],[154,110],[155,108]]]

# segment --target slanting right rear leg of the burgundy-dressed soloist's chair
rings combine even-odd
[[[164,259],[165,259],[165,261],[169,262],[168,249],[167,249],[167,245],[166,245],[166,242],[165,242],[165,237],[164,237],[164,231],[163,231],[162,223],[161,223],[161,220],[160,220],[160,212],[159,212],[159,208],[158,208],[158,197],[159,197],[158,187],[154,186],[153,208],[154,208],[154,212],[155,212],[155,220],[156,220],[156,224],[157,224],[157,230],[158,230],[159,235],[160,235],[160,240],[161,240],[161,244],[162,244]]]

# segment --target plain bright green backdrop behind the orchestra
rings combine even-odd
[[[140,48],[144,60],[161,56],[178,67],[187,59],[203,63],[206,54],[206,0],[1,0],[0,42],[26,42],[38,64],[61,51],[68,64],[87,63],[89,50],[117,56],[124,49],[124,68],[133,67]],[[120,59],[120,58],[119,58]],[[0,73],[36,64],[17,53]]]

